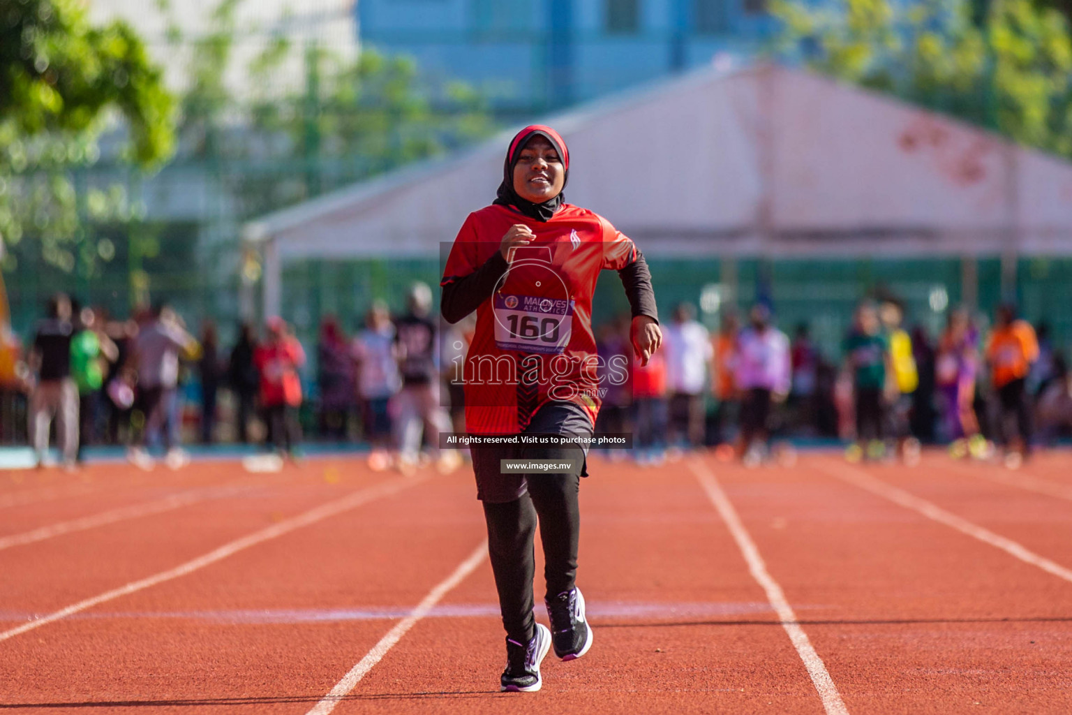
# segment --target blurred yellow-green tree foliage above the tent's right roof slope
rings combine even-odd
[[[774,0],[777,51],[1072,157],[1072,40],[1030,0]]]

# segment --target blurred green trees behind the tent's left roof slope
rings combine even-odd
[[[341,58],[316,44],[295,46],[283,34],[269,38],[244,68],[249,87],[228,91],[224,79],[236,62],[241,2],[221,0],[200,38],[174,34],[192,49],[190,89],[181,101],[182,158],[214,166],[237,199],[236,218],[442,154],[493,131],[476,91],[433,79],[410,58],[368,48]],[[301,76],[285,74],[296,66]]]

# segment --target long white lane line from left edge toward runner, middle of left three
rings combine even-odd
[[[0,631],[0,641],[5,641],[9,638],[14,638],[15,636],[18,636],[19,634],[25,634],[28,630],[33,630],[34,628],[40,628],[41,626],[54,623],[61,619],[65,619],[69,615],[78,613],[79,611],[85,611],[86,609],[92,608],[100,604],[104,604],[109,600],[115,600],[120,596],[125,596],[128,594],[132,594],[148,589],[150,586],[154,586],[159,583],[170,581],[172,579],[177,579],[181,576],[187,576],[188,574],[192,574],[200,568],[205,568],[206,566],[214,564],[218,561],[222,561],[227,556],[234,555],[239,551],[249,549],[250,547],[283,536],[284,534],[288,534],[297,528],[301,528],[302,526],[309,526],[310,524],[315,524],[316,522],[323,521],[328,517],[334,517],[336,515],[342,513],[343,511],[348,511],[349,509],[359,507],[362,504],[366,504],[373,500],[394,494],[399,491],[402,491],[403,489],[406,489],[407,487],[412,487],[416,483],[419,483],[428,479],[430,476],[431,475],[426,474],[417,477],[392,479],[390,481],[378,483],[374,487],[369,487],[360,491],[354,492],[353,494],[347,494],[346,496],[343,496],[342,498],[336,500],[333,502],[322,504],[321,506],[310,509],[309,511],[306,511],[303,513],[300,513],[297,517],[291,517],[289,519],[284,519],[283,521],[277,524],[272,524],[271,526],[268,526],[266,528],[253,532],[248,536],[235,539],[234,541],[228,541],[219,549],[214,549],[209,553],[205,554],[204,556],[198,556],[197,558],[188,561],[187,563],[176,566],[175,568],[170,568],[166,571],[161,571],[160,574],[155,574],[153,576],[140,579],[138,581],[131,581],[126,585],[119,586],[118,589],[113,589],[111,591],[106,591],[103,594],[100,594],[99,596],[93,596],[92,598],[80,600],[77,604],[72,604],[66,608],[62,608],[58,611],[49,613],[48,615],[41,616],[40,619],[35,619],[33,621],[30,621],[29,623],[25,623],[15,628]]]

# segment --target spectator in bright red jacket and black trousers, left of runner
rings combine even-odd
[[[268,444],[292,459],[301,443],[298,408],[301,406],[301,378],[298,369],[306,364],[301,343],[291,334],[281,317],[267,322],[268,340],[254,354],[260,373],[260,406],[268,421]]]

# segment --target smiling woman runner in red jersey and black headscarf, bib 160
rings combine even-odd
[[[628,360],[602,366],[592,331],[599,271],[615,269],[632,312],[630,339],[643,363],[661,343],[647,264],[602,217],[566,204],[569,150],[549,126],[510,141],[491,206],[468,215],[444,270],[443,317],[474,310],[465,357],[465,429],[472,435],[551,434],[574,445],[472,449],[477,498],[506,629],[503,690],[538,690],[540,662],[554,646],[571,660],[592,645],[576,585],[580,477],[600,404],[599,374],[627,378]],[[620,356],[621,357],[621,356]],[[610,368],[609,370],[606,368]],[[565,472],[510,472],[501,460],[569,462]],[[539,519],[551,631],[533,616],[533,537]],[[552,632],[553,631],[553,632]]]

